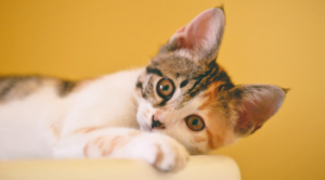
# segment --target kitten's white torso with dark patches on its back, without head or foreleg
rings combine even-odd
[[[66,81],[54,78],[8,77],[0,81],[5,103],[0,104],[0,158],[53,157],[52,147],[60,138],[82,128],[139,129],[133,93],[142,70],[79,81],[69,90],[62,88]],[[4,87],[15,91],[5,94]],[[26,95],[24,101],[15,101],[20,93]]]

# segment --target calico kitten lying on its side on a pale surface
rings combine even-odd
[[[223,9],[200,13],[145,68],[81,81],[0,79],[0,159],[140,158],[177,171],[259,129],[285,89],[235,86],[216,63]]]

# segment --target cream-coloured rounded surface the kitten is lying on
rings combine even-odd
[[[1,180],[240,180],[237,164],[226,156],[191,156],[185,169],[159,172],[144,162],[130,159],[78,159],[1,162]]]

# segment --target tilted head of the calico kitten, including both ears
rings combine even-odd
[[[282,88],[235,86],[216,63],[223,29],[223,10],[207,10],[153,57],[136,83],[142,130],[169,134],[199,154],[251,134],[277,112]]]

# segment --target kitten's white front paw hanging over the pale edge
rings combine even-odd
[[[143,141],[139,151],[142,158],[158,170],[179,171],[188,162],[190,154],[186,149],[170,137],[150,133],[141,139]]]

